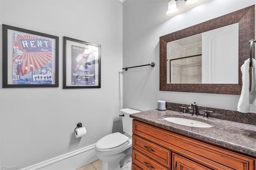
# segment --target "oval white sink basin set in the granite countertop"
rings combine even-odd
[[[180,117],[166,117],[166,118],[164,118],[164,120],[172,122],[172,123],[176,123],[179,125],[185,125],[188,127],[200,127],[200,128],[212,127],[212,125],[209,125],[208,123],[194,121],[191,119],[180,118]]]

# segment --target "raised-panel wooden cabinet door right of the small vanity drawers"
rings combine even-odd
[[[173,153],[173,170],[213,170],[184,156]]]

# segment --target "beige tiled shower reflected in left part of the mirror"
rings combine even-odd
[[[171,56],[170,59],[176,59],[170,61],[170,83],[202,83],[202,55],[177,59],[201,54],[201,42],[184,46],[172,43],[167,52]]]

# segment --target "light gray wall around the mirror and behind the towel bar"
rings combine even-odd
[[[159,37],[253,5],[255,0],[211,0],[174,17],[165,15],[167,4],[168,0],[124,2],[124,67],[156,63],[154,68],[124,72],[124,107],[145,111],[156,109],[157,101],[164,100],[184,104],[196,101],[200,106],[236,110],[239,95],[159,91]],[[251,107],[251,111],[256,108]]]

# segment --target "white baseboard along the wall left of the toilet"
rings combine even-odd
[[[95,144],[92,144],[21,170],[76,170],[98,160],[94,148]]]

